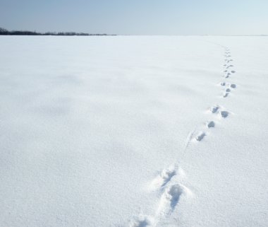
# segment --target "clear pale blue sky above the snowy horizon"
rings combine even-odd
[[[119,35],[268,34],[268,0],[0,0],[0,27]]]

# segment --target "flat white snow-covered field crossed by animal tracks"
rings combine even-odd
[[[267,226],[268,37],[0,48],[0,226]]]

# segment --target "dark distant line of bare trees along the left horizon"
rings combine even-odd
[[[37,33],[37,32],[32,32],[28,30],[6,30],[5,28],[0,28],[0,35],[107,35],[107,34],[89,34],[89,33],[74,33],[74,32],[67,32],[67,33]]]

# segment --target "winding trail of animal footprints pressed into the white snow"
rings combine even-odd
[[[233,65],[230,64],[230,62],[232,62],[233,59],[231,59],[231,52],[229,51],[228,48],[226,48],[226,52],[224,56],[226,57],[226,59],[225,59],[225,64],[224,64],[224,76],[223,77],[229,78],[229,76],[231,76],[231,74],[236,73],[236,71],[234,70],[231,71],[231,69],[229,69],[233,67]],[[226,98],[229,95],[229,93],[233,91],[231,90],[231,88],[236,88],[236,84],[229,83],[229,79],[226,81],[227,83],[225,81],[222,81],[220,83],[221,86],[226,86],[223,88],[224,98]],[[224,108],[222,108],[219,105],[213,105],[212,107],[210,107],[209,112],[212,114],[217,114],[217,116],[221,118],[229,117],[229,112],[224,110]],[[207,129],[205,129],[205,132],[197,131],[198,133],[195,134],[196,131],[193,130],[193,132],[189,134],[190,136],[188,136],[185,149],[187,149],[187,146],[191,141],[192,142],[202,141],[202,139],[204,139],[204,137],[207,136],[207,133],[209,134],[209,132],[212,132],[213,129],[210,129],[210,128],[215,127],[215,122],[213,120],[209,120],[205,122],[205,126],[207,127]],[[205,126],[203,125],[203,127]],[[162,172],[159,173],[159,175],[157,175],[157,177],[155,177],[154,180],[152,180],[150,187],[153,190],[160,189],[162,192],[157,212],[154,217],[140,216],[138,219],[135,219],[130,223],[130,227],[157,226],[157,222],[160,219],[165,218],[166,216],[171,214],[171,212],[176,208],[176,205],[178,204],[182,196],[184,197],[185,195],[192,193],[190,192],[190,190],[188,190],[187,187],[178,183],[177,180],[180,178],[180,174],[181,174],[180,172],[181,170],[178,169],[176,165],[172,165],[171,167],[165,168],[164,170],[162,170]],[[174,184],[173,182],[176,182],[176,181],[177,183]]]

